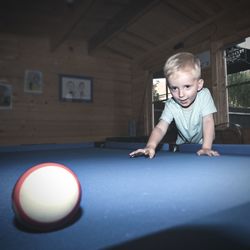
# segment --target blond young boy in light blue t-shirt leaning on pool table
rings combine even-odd
[[[146,147],[137,149],[130,156],[144,154],[153,158],[157,145],[173,120],[178,129],[177,145],[199,143],[202,146],[198,155],[218,156],[219,153],[212,150],[215,134],[213,113],[217,110],[209,90],[203,88],[200,60],[188,52],[175,54],[167,60],[164,74],[172,98],[166,101]]]

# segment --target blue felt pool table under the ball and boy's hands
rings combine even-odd
[[[198,145],[130,158],[141,143],[0,148],[0,249],[250,249],[250,145]],[[11,194],[20,175],[44,162],[72,169],[82,186],[72,223],[50,232],[21,226]]]

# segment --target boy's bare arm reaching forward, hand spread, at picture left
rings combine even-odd
[[[144,154],[144,155],[148,155],[149,158],[153,158],[155,155],[155,149],[160,143],[160,141],[162,140],[162,138],[164,137],[164,135],[166,134],[168,127],[169,127],[169,124],[166,121],[160,120],[159,123],[154,127],[148,139],[146,147],[143,149],[137,149],[131,152],[129,155],[131,157],[134,157],[137,155]]]

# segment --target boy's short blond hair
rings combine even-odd
[[[191,70],[193,71],[194,77],[199,79],[201,76],[200,59],[189,52],[180,52],[171,56],[163,68],[166,79],[179,70]]]

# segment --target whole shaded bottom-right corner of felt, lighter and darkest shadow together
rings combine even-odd
[[[249,250],[249,218],[250,203],[246,203],[106,249]]]

